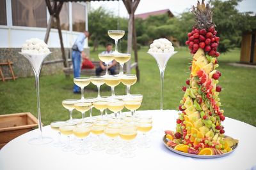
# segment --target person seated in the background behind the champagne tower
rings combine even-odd
[[[112,53],[112,44],[108,43],[106,45],[106,51],[102,52],[102,53]],[[115,70],[116,70],[116,61],[113,60],[111,62],[108,63],[108,71],[110,71],[110,74],[115,74]],[[102,71],[104,71],[106,69],[106,64],[102,61],[100,61],[100,66],[97,67],[96,69],[96,75],[99,76],[100,73],[102,73]]]

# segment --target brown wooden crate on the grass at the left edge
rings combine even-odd
[[[31,113],[0,115],[0,149],[12,139],[29,132],[38,125]]]

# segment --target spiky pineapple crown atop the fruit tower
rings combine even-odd
[[[208,29],[211,26],[216,26],[212,22],[212,8],[210,6],[210,3],[207,3],[205,6],[204,0],[202,0],[202,3],[200,4],[199,1],[197,1],[196,7],[192,7],[192,13],[195,16],[195,27],[198,29]]]

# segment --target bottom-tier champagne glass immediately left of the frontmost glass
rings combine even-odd
[[[119,136],[119,129],[107,127],[104,130],[104,134],[106,134],[106,136],[108,136],[111,139],[111,143],[109,143],[109,149],[106,150],[106,153],[108,154],[119,153],[119,150],[116,148],[116,143],[115,143],[115,139]]]

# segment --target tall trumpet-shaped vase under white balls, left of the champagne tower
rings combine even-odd
[[[41,111],[40,111],[40,92],[39,92],[39,77],[42,63],[51,52],[42,54],[29,54],[26,52],[21,52],[20,54],[29,60],[32,69],[35,74],[36,80],[36,99],[37,99],[37,118],[38,118],[38,128],[40,129],[40,136],[29,139],[29,144],[31,145],[44,145],[52,142],[52,138],[49,136],[43,136],[42,134],[42,122],[41,122]]]

